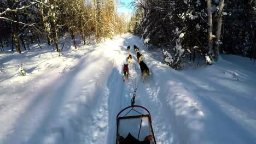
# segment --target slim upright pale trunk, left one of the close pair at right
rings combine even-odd
[[[212,1],[207,0],[207,15],[208,15],[208,53],[213,53],[212,50]]]

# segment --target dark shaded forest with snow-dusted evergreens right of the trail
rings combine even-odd
[[[255,0],[139,1],[129,26],[149,47],[165,47],[175,69],[200,56],[211,65],[219,53],[256,58]]]

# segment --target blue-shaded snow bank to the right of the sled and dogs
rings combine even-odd
[[[138,87],[137,104],[152,113],[158,143],[255,142],[252,61],[222,55],[212,66],[176,71],[151,52],[142,49],[141,53],[152,75]],[[133,75],[139,80],[139,71]]]

